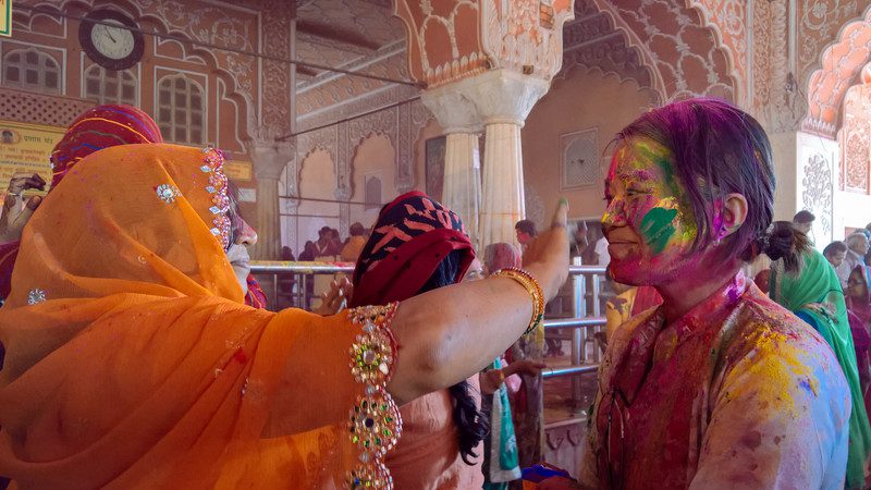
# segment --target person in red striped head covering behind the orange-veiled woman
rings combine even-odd
[[[88,155],[118,145],[163,143],[160,127],[142,109],[126,105],[103,105],[85,111],[75,119],[51,151],[51,186],[56,188],[79,160]],[[12,268],[19,255],[22,230],[27,219],[41,203],[40,196],[26,203],[23,193],[29,188],[45,189],[45,181],[37,174],[16,173],[12,176],[0,219],[0,297],[9,296]],[[246,304],[255,308],[266,306],[266,295],[253,275],[247,277]]]

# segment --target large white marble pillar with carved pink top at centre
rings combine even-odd
[[[468,122],[461,127],[486,127],[479,247],[515,242],[514,223],[524,217],[520,128],[560,71],[563,24],[574,16],[574,0],[445,0],[438,7],[396,0],[394,15],[407,27],[409,75],[426,84],[424,102],[455,135],[449,137],[456,146],[447,149],[445,167],[452,155],[452,169],[464,166],[457,181],[468,172],[462,148],[471,142],[461,134],[471,132],[454,131],[446,113],[467,111]],[[440,106],[446,110],[439,111]],[[459,204],[445,201],[459,208],[464,184],[453,187],[454,177],[445,171],[445,196]]]

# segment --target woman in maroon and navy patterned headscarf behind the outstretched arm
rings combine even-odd
[[[354,270],[349,305],[388,305],[458,283],[475,259],[459,217],[422,193],[384,206]],[[481,488],[477,376],[421,396],[401,408],[403,439],[385,464],[396,488]]]

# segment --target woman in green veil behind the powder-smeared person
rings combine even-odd
[[[857,370],[854,335],[837,274],[825,257],[812,248],[801,229],[788,221],[774,223],[765,254],[774,260],[769,280],[772,299],[796,314],[825,339],[847,378],[852,395],[847,486],[864,488],[871,428]],[[857,331],[857,335],[860,345],[868,343],[863,329]]]

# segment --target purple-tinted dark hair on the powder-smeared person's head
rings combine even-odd
[[[747,219],[723,241],[723,260],[752,260],[774,215],[774,167],[762,126],[732,103],[713,98],[672,102],[646,112],[617,134],[617,143],[647,137],[668,148],[675,175],[687,189],[698,234],[694,250],[716,240],[717,199],[747,199]]]

